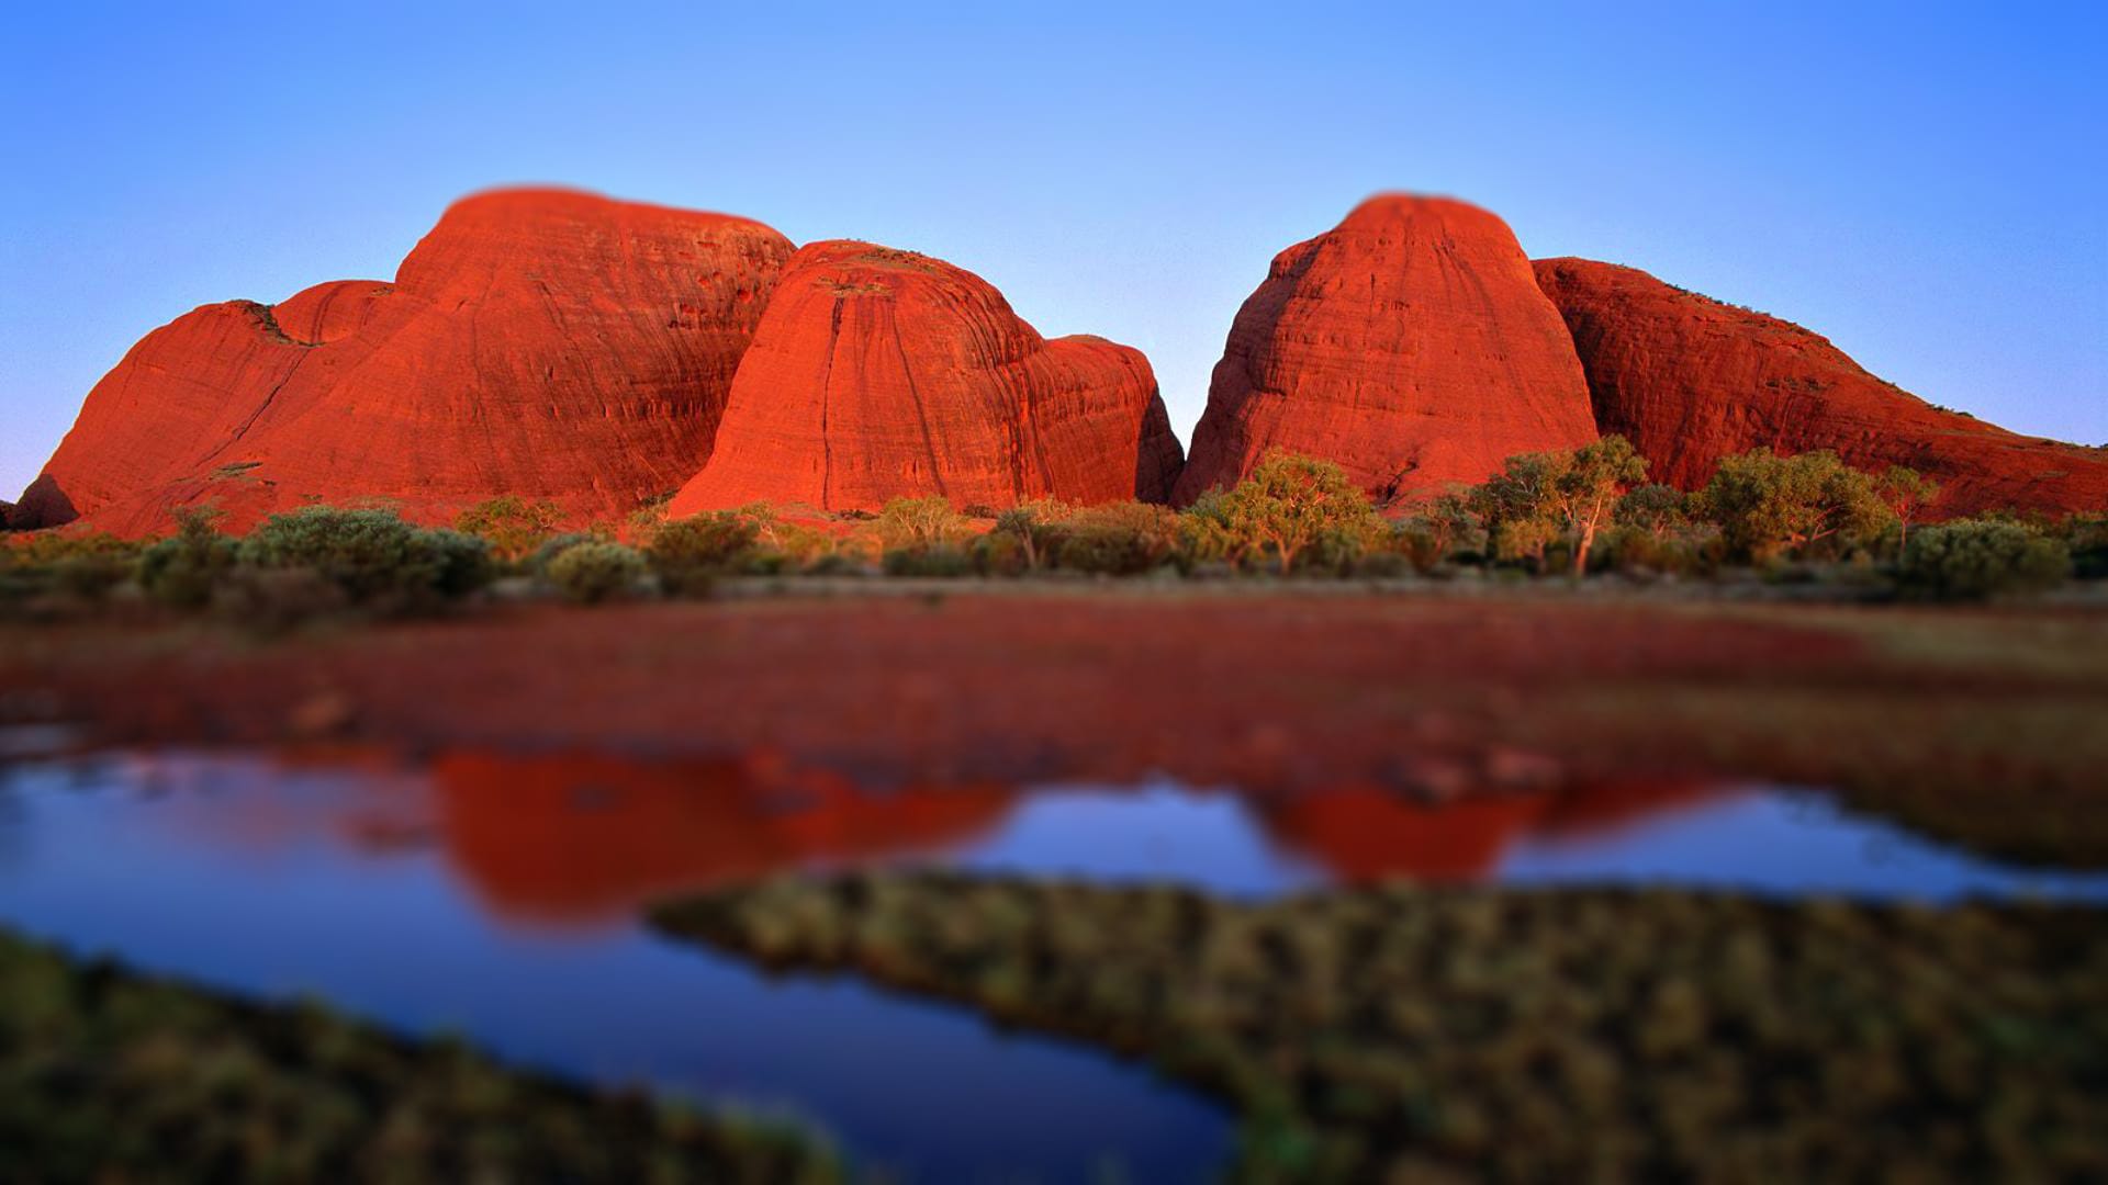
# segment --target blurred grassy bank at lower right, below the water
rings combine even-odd
[[[1145,1058],[1244,1113],[1248,1181],[2108,1174],[2089,909],[887,873],[653,924]]]

